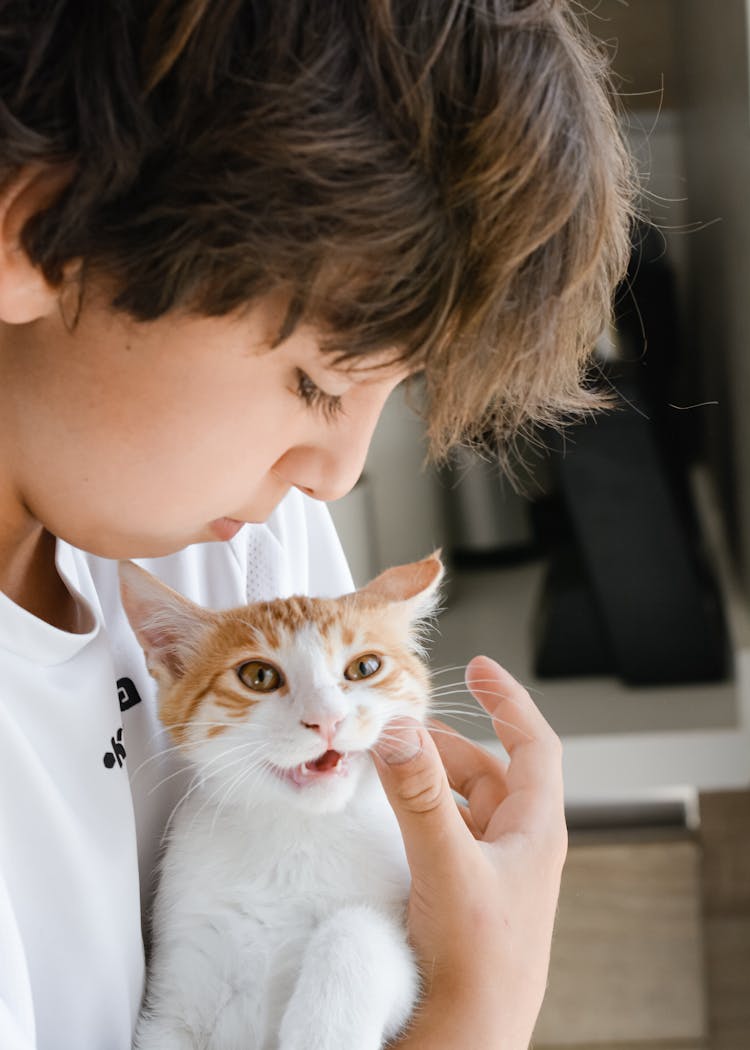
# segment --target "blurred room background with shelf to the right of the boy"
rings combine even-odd
[[[750,77],[746,0],[586,0],[643,187],[613,413],[423,467],[394,396],[332,506],[358,583],[443,548],[436,710],[503,663],[563,738],[570,859],[535,1045],[750,1047]],[[418,393],[418,392],[417,392]],[[443,688],[444,687],[444,688]]]

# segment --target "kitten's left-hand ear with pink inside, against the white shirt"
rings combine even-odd
[[[123,608],[148,670],[160,685],[171,685],[200,649],[213,624],[211,613],[132,562],[120,562],[119,568]]]

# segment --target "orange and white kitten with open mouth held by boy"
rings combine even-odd
[[[379,1050],[418,975],[370,749],[422,720],[437,554],[338,598],[226,612],[121,564],[160,716],[194,773],[153,915],[139,1050]]]

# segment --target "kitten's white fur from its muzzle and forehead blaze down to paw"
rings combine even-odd
[[[138,1050],[379,1050],[409,1020],[409,869],[368,749],[425,698],[416,682],[399,699],[367,679],[341,689],[355,655],[332,657],[311,626],[277,656],[289,696],[225,713],[212,739],[215,700],[193,715],[195,778],[164,860]],[[340,719],[329,742],[305,726],[326,716]],[[298,789],[272,770],[328,747],[350,754],[346,776]]]

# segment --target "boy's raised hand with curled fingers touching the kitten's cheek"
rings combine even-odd
[[[424,981],[403,1050],[526,1050],[546,986],[567,847],[560,741],[494,660],[475,657],[466,684],[508,763],[439,722],[432,735],[392,723],[376,749],[412,873],[409,932]]]

